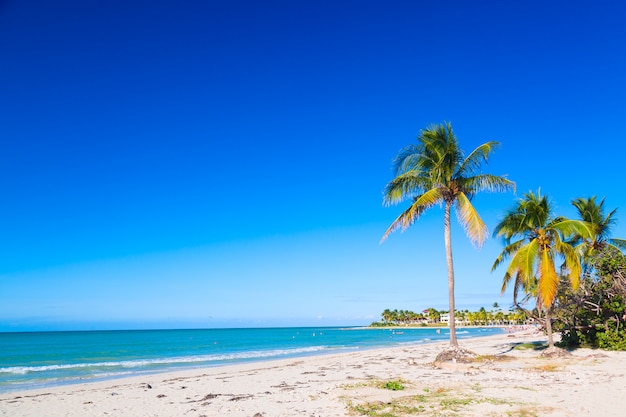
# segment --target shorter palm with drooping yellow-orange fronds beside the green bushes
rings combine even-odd
[[[491,270],[493,272],[510,259],[502,281],[502,293],[514,280],[515,303],[520,289],[536,298],[538,309],[546,315],[550,348],[554,348],[550,308],[559,286],[555,262],[559,258],[563,260],[561,271],[576,289],[581,263],[568,239],[574,236],[588,239],[592,234],[592,225],[587,222],[555,216],[550,202],[539,191],[524,194],[495,228],[494,235],[504,238],[505,247]]]

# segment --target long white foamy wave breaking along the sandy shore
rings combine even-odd
[[[222,361],[237,361],[246,359],[272,358],[277,356],[298,355],[303,353],[313,353],[325,350],[325,346],[313,346],[300,349],[277,349],[268,351],[248,351],[222,355],[198,355],[198,356],[182,356],[174,358],[157,358],[157,359],[137,359],[130,361],[111,361],[111,362],[94,362],[94,363],[73,363],[58,365],[39,365],[39,366],[10,366],[0,368],[0,374],[18,374],[25,375],[35,372],[49,372],[60,370],[78,370],[81,368],[146,368],[165,365],[183,365],[183,364],[201,364]]]

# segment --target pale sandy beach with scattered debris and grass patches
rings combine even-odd
[[[626,352],[577,349],[548,359],[530,345],[542,342],[532,331],[463,340],[480,360],[442,367],[433,361],[447,343],[13,392],[0,395],[0,415],[624,415]]]

